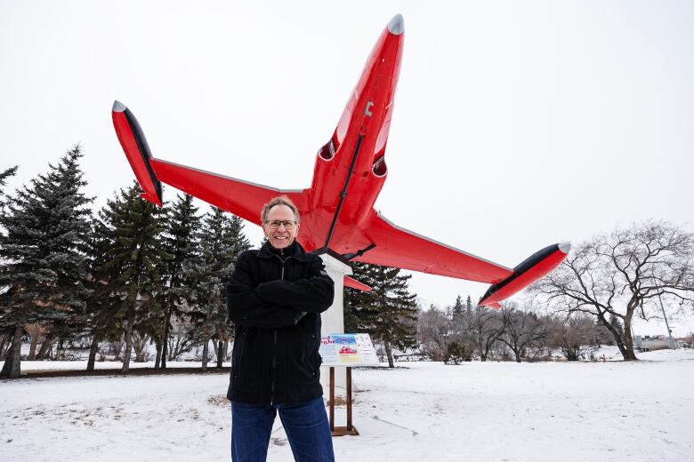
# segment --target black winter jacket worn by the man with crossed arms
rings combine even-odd
[[[320,386],[320,313],[333,303],[334,283],[322,259],[299,243],[265,243],[238,256],[226,285],[236,324],[227,397],[254,404],[306,402]]]

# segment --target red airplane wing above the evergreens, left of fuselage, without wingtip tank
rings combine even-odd
[[[151,157],[149,163],[161,182],[198,197],[222,210],[230,211],[242,219],[261,225],[260,212],[265,203],[278,195],[287,195],[301,210],[306,201],[301,190],[278,189],[257,185],[242,179],[234,179],[202,171],[178,163]]]

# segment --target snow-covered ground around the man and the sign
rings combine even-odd
[[[337,460],[694,460],[694,350],[641,362],[400,362],[353,373]],[[0,459],[230,460],[225,374],[0,381]],[[337,425],[344,425],[343,410]],[[281,427],[270,461],[292,460]]]

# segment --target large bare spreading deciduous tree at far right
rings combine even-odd
[[[658,315],[658,297],[694,307],[694,239],[680,227],[648,221],[580,243],[553,273],[533,285],[554,307],[591,315],[633,361],[632,320]],[[624,338],[609,323],[624,324]]]

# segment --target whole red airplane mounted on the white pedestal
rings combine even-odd
[[[333,136],[320,147],[311,187],[305,189],[266,187],[156,159],[133,113],[116,101],[113,123],[144,191],[142,197],[161,207],[163,182],[261,225],[262,205],[287,195],[301,213],[297,239],[307,251],[329,253],[347,262],[491,283],[479,305],[500,307],[499,302],[557,267],[570,244],[546,247],[511,269],[398,227],[374,210],[388,174],[384,153],[403,39],[404,22],[398,14],[379,36]],[[349,277],[345,285],[368,290]]]

